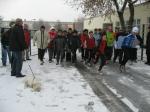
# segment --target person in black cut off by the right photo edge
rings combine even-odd
[[[147,40],[146,40],[146,55],[147,62],[145,64],[150,65],[150,26],[148,27]]]

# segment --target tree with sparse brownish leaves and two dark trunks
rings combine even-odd
[[[67,0],[73,7],[81,8],[85,15],[94,17],[102,15],[111,18],[111,15],[117,12],[121,27],[125,29],[124,11],[129,7],[129,26],[133,25],[134,21],[134,6],[137,2],[148,0]]]

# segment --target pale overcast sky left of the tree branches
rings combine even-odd
[[[81,11],[65,4],[65,0],[0,0],[0,16],[4,20],[74,21],[82,16]]]

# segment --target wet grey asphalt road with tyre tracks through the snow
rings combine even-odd
[[[87,67],[78,62],[76,68],[89,82],[93,91],[103,100],[111,112],[132,112],[104,85],[104,81],[122,97],[127,98],[139,112],[150,112],[150,76],[129,68],[120,73],[118,64],[106,65],[103,74],[96,67]]]

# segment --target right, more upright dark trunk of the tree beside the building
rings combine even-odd
[[[133,27],[133,22],[134,22],[134,4],[129,3],[129,12],[130,12],[130,17],[129,17],[129,31],[131,31]]]

